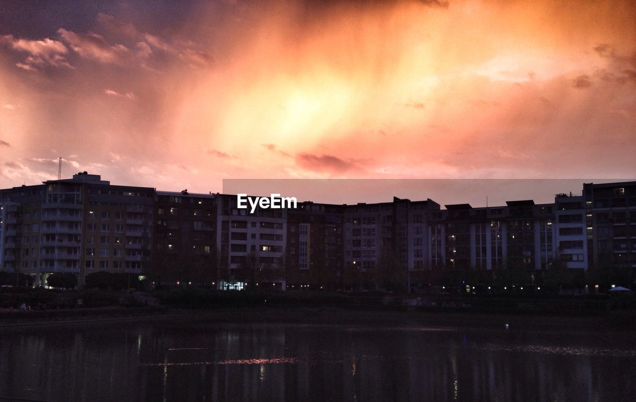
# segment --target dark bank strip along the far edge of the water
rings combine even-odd
[[[0,313],[0,329],[148,320],[189,322],[285,322],[290,324],[356,324],[392,326],[443,326],[541,330],[636,331],[632,315],[608,312],[599,315],[537,315],[500,312],[430,312],[325,308],[219,308],[181,309],[164,307],[78,308]]]

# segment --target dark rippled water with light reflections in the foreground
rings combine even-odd
[[[0,333],[0,397],[47,401],[616,402],[635,372],[628,333],[204,319]]]

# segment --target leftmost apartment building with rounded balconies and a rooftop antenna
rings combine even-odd
[[[45,284],[53,272],[141,275],[151,249],[154,188],[113,186],[99,175],[1,191],[3,270]]]

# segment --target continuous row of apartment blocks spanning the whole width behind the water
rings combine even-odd
[[[636,182],[584,184],[551,204],[394,198],[253,213],[236,195],[114,186],[86,172],[0,190],[0,269],[36,284],[71,272],[81,285],[105,270],[171,287],[413,289],[453,272],[518,270],[538,283],[555,267],[608,264],[636,267]]]

